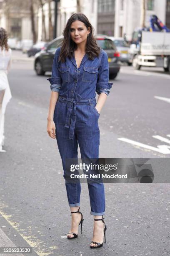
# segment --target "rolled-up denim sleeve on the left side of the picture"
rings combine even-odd
[[[55,56],[52,64],[52,75],[51,75],[51,78],[47,79],[50,82],[50,89],[53,92],[59,92],[61,83],[62,83],[62,80],[60,77],[60,71],[58,68],[59,53],[60,53],[60,48],[57,48],[57,50],[55,51]]]

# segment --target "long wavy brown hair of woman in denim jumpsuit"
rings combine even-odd
[[[86,28],[90,27],[90,33],[87,36],[87,43],[86,43],[86,49],[85,49],[85,52],[88,54],[89,59],[92,60],[95,57],[98,57],[100,54],[100,47],[97,45],[97,42],[94,36],[94,29],[90,24],[89,20],[83,13],[74,13],[67,20],[65,29],[62,32],[64,39],[62,42],[62,47],[60,50],[60,57],[59,57],[59,61],[61,62],[65,62],[66,57],[71,58],[74,54],[74,50],[77,49],[77,44],[73,42],[70,37],[71,24],[76,20],[82,21],[85,24]]]

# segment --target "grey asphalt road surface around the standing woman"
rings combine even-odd
[[[46,132],[49,76],[35,75],[33,58],[17,51],[13,56],[6,153],[0,153],[0,246],[32,247],[30,255],[40,256],[170,255],[170,185],[163,175],[168,164],[157,172],[158,183],[105,184],[107,243],[96,251],[89,247],[93,217],[82,184],[83,233],[79,229],[78,239],[66,238],[71,215],[62,163],[56,141]],[[123,65],[113,83],[99,118],[100,158],[168,161],[170,75]]]

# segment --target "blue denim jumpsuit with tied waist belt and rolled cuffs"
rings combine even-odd
[[[66,160],[77,159],[78,144],[82,158],[99,158],[100,131],[95,108],[96,93],[110,92],[112,83],[108,82],[109,68],[105,51],[100,49],[100,56],[93,60],[85,54],[77,68],[75,55],[63,63],[58,61],[60,47],[57,48],[52,64],[50,89],[59,92],[54,111],[57,145],[66,173]],[[103,183],[87,181],[91,215],[105,214],[105,191]],[[65,182],[70,207],[80,205],[80,182]]]

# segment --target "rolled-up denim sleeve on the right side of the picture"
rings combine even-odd
[[[100,59],[100,68],[98,72],[96,92],[97,94],[105,93],[108,95],[110,93],[110,88],[113,83],[109,83],[109,64],[107,53],[102,50],[102,56]]]

